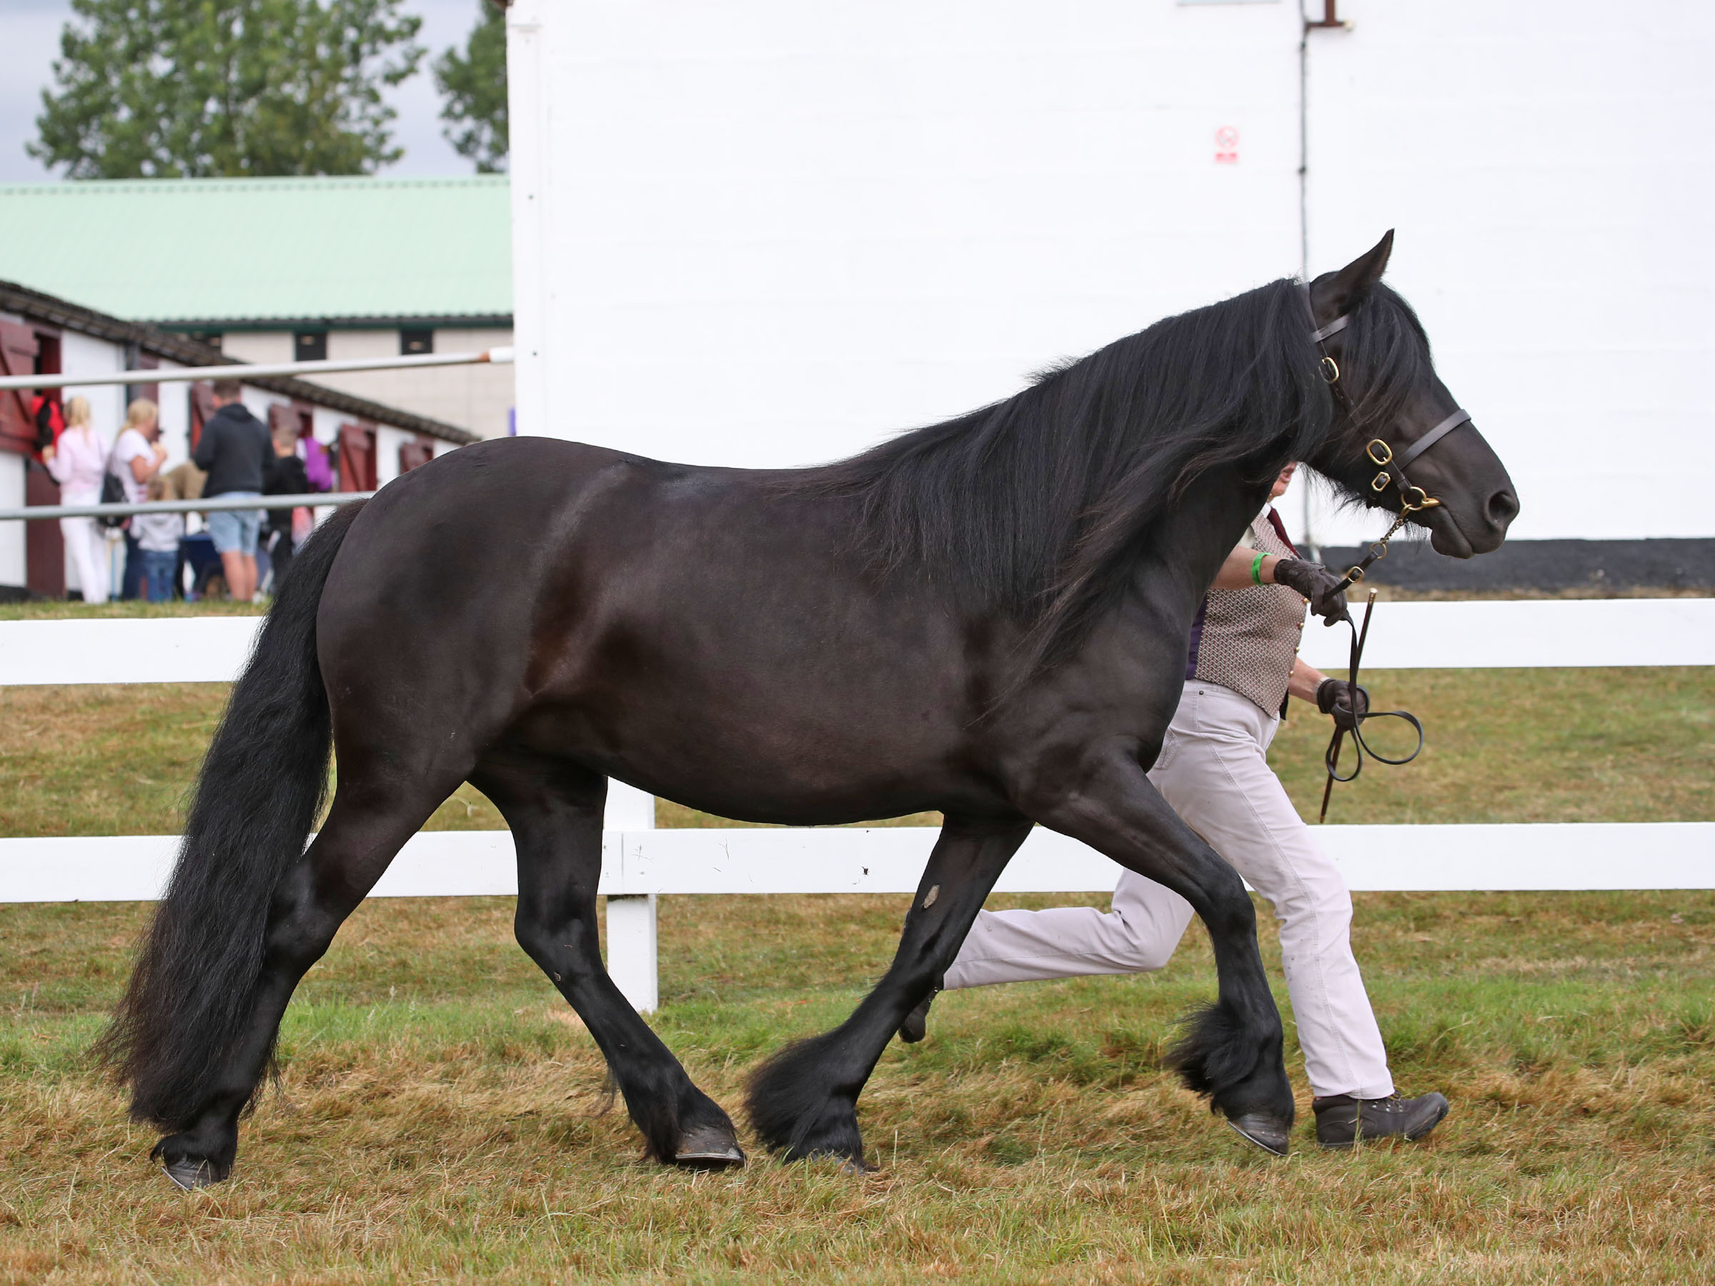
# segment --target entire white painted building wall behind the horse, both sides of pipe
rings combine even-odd
[[[1339,14],[1300,117],[1297,3],[516,0],[520,430],[828,460],[1393,226],[1516,537],[1715,535],[1715,9]]]

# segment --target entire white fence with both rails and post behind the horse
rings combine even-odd
[[[129,684],[233,679],[259,617],[0,622],[0,682]],[[1305,629],[1305,658],[1338,672],[1345,631]],[[1387,604],[1369,669],[1715,664],[1715,598]],[[1715,821],[1329,825],[1319,838],[1355,890],[1489,892],[1715,888]],[[602,837],[607,965],[640,1008],[657,1005],[655,898],[664,893],[911,893],[935,832],[876,828],[655,830],[653,799],[614,784]],[[178,838],[0,838],[0,902],[147,900]],[[1000,892],[1113,886],[1116,868],[1038,828]],[[516,893],[508,832],[422,832],[377,897]]]

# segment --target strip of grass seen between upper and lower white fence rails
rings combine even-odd
[[[1712,667],[1377,670],[1369,688],[1379,710],[1415,712],[1427,746],[1411,765],[1372,765],[1336,787],[1333,821],[1715,818]],[[225,701],[225,684],[0,688],[0,833],[175,833]],[[1269,761],[1314,818],[1329,724],[1303,703],[1291,710]],[[671,801],[657,821],[734,825]],[[429,830],[504,825],[465,785]]]

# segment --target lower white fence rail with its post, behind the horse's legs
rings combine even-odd
[[[647,796],[643,796],[647,801]],[[640,1010],[659,998],[660,893],[911,893],[936,832],[875,828],[609,830],[602,837],[607,965]],[[1317,837],[1355,890],[1489,892],[1715,886],[1715,823],[1322,826]],[[0,902],[132,902],[159,897],[175,835],[0,838]],[[1118,866],[1038,828],[996,888],[1113,888]],[[518,892],[504,830],[415,835],[376,897]]]

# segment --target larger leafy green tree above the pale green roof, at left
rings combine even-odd
[[[70,178],[357,175],[396,161],[401,0],[72,0],[36,142]]]

